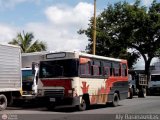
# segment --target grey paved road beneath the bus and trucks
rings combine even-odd
[[[45,107],[8,107],[0,112],[7,115],[8,120],[131,120],[135,116],[145,114],[149,119],[160,119],[160,96],[126,99],[120,101],[118,107],[95,105],[87,111],[76,111],[74,108],[56,109],[48,111]],[[146,117],[143,116],[143,117]],[[139,117],[139,116],[138,116]],[[5,118],[5,116],[4,116]],[[140,118],[139,118],[140,119]],[[145,119],[145,118],[144,118]],[[1,120],[1,116],[0,116]]]

